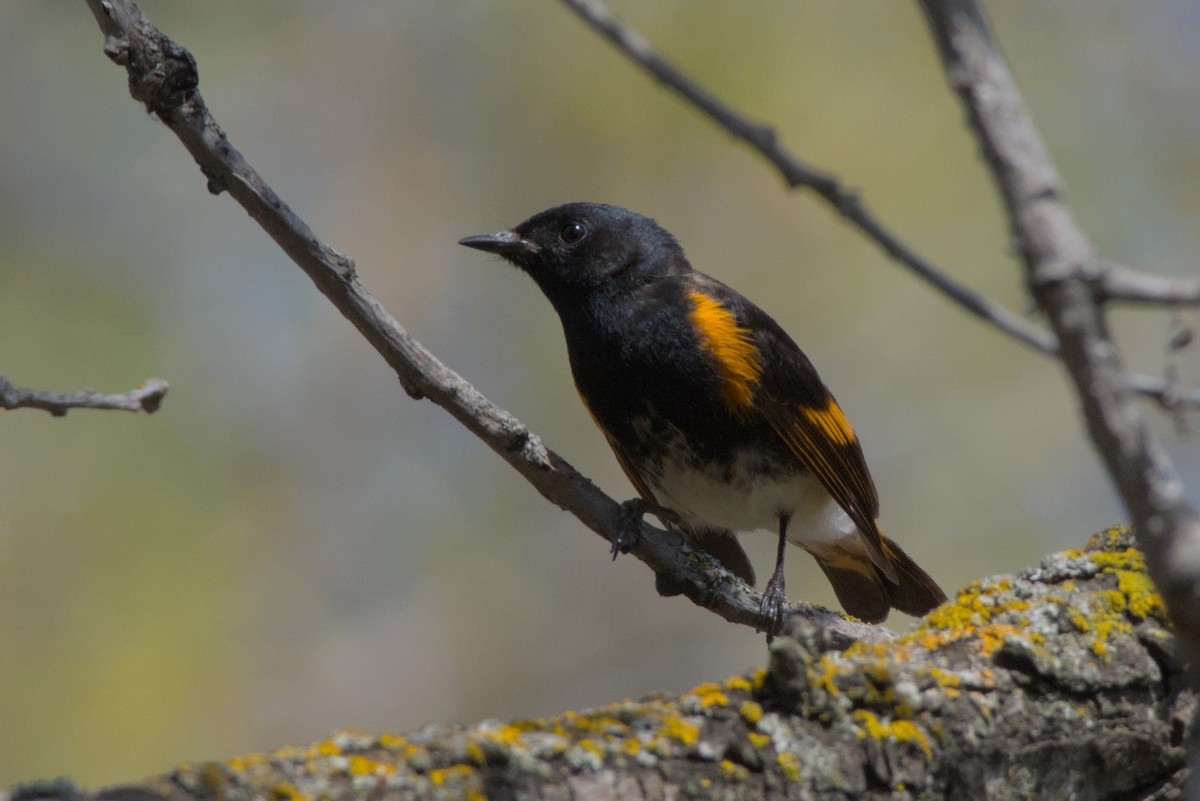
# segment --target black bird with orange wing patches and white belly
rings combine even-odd
[[[694,270],[656,222],[571,203],[460,245],[504,257],[541,288],[583,404],[668,528],[750,584],[733,532],[778,531],[768,633],[786,604],[787,542],[816,558],[862,620],[946,601],[876,524],[858,436],[812,363],[766,312]]]

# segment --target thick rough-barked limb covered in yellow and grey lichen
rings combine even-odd
[[[769,666],[547,719],[340,733],[88,793],[8,801],[1170,799],[1195,697],[1127,531],[976,582],[846,650],[794,618]],[[4,794],[0,793],[0,801]]]

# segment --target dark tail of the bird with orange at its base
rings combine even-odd
[[[895,583],[871,564],[857,537],[847,538],[846,544],[850,547],[845,549],[839,543],[809,553],[821,565],[847,614],[877,624],[892,609],[919,618],[946,601],[937,582],[890,540],[883,540],[883,553],[896,572]],[[857,549],[852,549],[854,546]]]

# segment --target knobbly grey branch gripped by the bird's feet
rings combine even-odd
[[[620,507],[511,414],[485,398],[443,365],[372,297],[359,282],[353,261],[317,239],[270,186],[246,163],[209,114],[197,89],[196,61],[167,38],[130,0],[88,0],[104,34],[104,53],[124,66],[134,100],[179,137],[199,164],[214,193],[228,191],[317,288],[396,371],[414,398],[428,398],[496,451],[548,501],[612,540]],[[761,596],[710,559],[697,559],[678,535],[650,525],[631,552],[695,603],[732,622],[766,628]],[[881,640],[880,627],[847,620],[828,609],[793,604],[800,614],[828,626],[841,644]]]

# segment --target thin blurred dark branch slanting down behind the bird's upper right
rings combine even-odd
[[[683,74],[670,61],[652,50],[640,34],[613,19],[601,0],[563,0],[563,2],[596,32],[612,42],[618,50],[654,76],[659,83],[698,108],[728,133],[758,151],[779,170],[787,186],[792,188],[808,187],[816,192],[820,198],[833,206],[845,219],[858,227],[859,230],[866,234],[890,258],[912,270],[971,314],[990,323],[1040,354],[1057,356],[1058,345],[1052,333],[1004,306],[968,289],[930,261],[923,259],[880,223],[866,210],[859,197],[844,188],[836,177],[802,162],[779,144],[779,138],[770,126],[738,114],[691,78]]]

